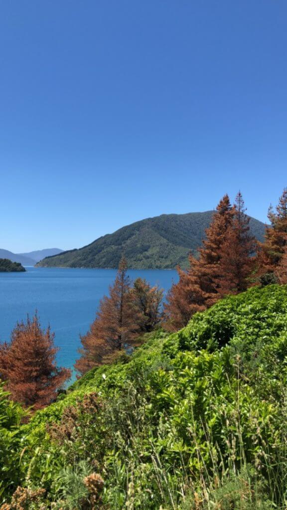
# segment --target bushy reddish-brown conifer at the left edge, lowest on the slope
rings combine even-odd
[[[10,343],[0,346],[0,377],[13,400],[41,409],[57,396],[70,370],[57,367],[54,334],[42,329],[37,314],[16,325]]]

